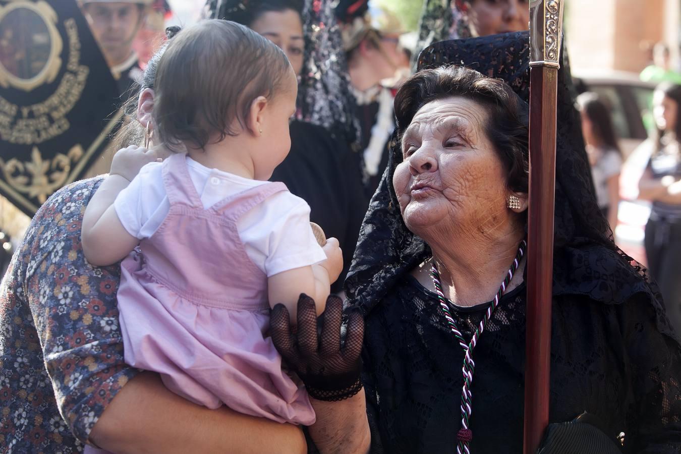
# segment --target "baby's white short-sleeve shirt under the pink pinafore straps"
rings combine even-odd
[[[189,156],[186,159],[189,176],[204,208],[267,183],[209,169]],[[138,240],[151,238],[170,212],[162,165],[149,163],[142,167],[114,202],[123,227]],[[310,227],[310,207],[289,191],[275,193],[253,207],[237,221],[236,227],[247,255],[268,277],[326,259]]]

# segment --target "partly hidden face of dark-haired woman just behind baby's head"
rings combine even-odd
[[[279,46],[291,62],[296,76],[300,75],[305,42],[302,35],[302,22],[297,12],[285,10],[260,14],[250,28]]]

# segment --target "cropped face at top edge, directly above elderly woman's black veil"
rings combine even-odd
[[[473,36],[523,31],[529,27],[528,0],[472,0],[467,6]]]

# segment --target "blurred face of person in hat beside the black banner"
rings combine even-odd
[[[142,10],[133,3],[87,3],[84,12],[101,49],[127,52],[140,25]]]

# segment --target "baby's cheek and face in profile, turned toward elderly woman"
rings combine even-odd
[[[293,69],[289,69],[278,93],[266,107],[266,118],[261,136],[262,146],[253,158],[254,178],[269,180],[274,168],[281,164],[291,150],[289,121],[296,113],[298,80]]]

